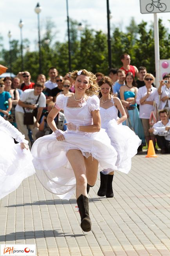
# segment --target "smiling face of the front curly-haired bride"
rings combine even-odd
[[[74,82],[75,92],[84,93],[87,89],[89,89],[89,77],[80,75],[76,77],[76,81]]]

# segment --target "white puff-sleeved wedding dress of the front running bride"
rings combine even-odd
[[[63,109],[67,122],[79,125],[92,125],[91,111],[99,110],[99,98],[92,96],[80,107],[67,107],[69,97],[59,95],[55,107]],[[117,169],[117,153],[110,144],[104,129],[96,133],[61,131],[65,140],[58,141],[54,133],[38,138],[33,144],[31,153],[36,175],[42,185],[60,199],[69,200],[76,189],[74,171],[67,158],[69,149],[79,149],[83,156],[92,156],[102,169]],[[78,161],[78,159],[77,159]],[[93,170],[92,170],[93,171]]]

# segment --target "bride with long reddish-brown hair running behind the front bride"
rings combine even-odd
[[[127,119],[127,114],[119,98],[112,96],[112,80],[110,77],[102,77],[98,85],[100,87],[100,116],[101,127],[104,128],[118,153],[116,161],[117,170],[128,173],[131,169],[131,158],[137,154],[137,148],[141,140],[128,126],[122,125]],[[118,118],[118,110],[121,118]],[[99,196],[113,197],[112,180],[114,171],[105,169],[100,172]]]

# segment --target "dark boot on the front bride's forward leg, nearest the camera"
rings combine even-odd
[[[89,217],[89,198],[85,195],[80,195],[77,199],[77,204],[81,217],[81,228],[85,232],[89,232],[91,230],[91,221]]]

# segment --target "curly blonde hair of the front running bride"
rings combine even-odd
[[[89,84],[90,87],[85,91],[85,94],[88,96],[92,96],[94,94],[98,94],[99,86],[96,82],[97,77],[90,71],[87,71],[86,69],[80,70],[81,75],[88,76],[89,77]],[[71,78],[73,81],[76,81],[76,78],[78,77],[78,70],[74,70],[71,72]]]

